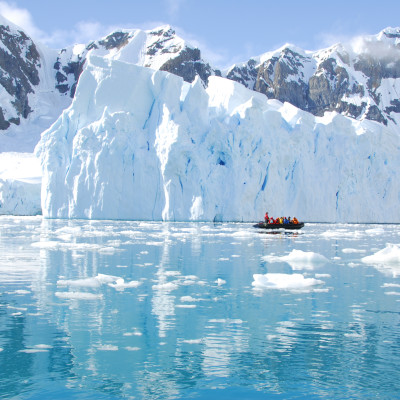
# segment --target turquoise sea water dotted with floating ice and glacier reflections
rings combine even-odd
[[[400,227],[0,218],[0,398],[399,399]]]

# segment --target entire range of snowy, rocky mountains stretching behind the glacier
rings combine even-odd
[[[198,76],[205,87],[210,76],[222,76],[315,116],[335,111],[394,129],[400,124],[399,28],[314,52],[286,44],[225,71],[170,25],[118,29],[53,51],[1,18],[0,44],[0,152],[33,151],[42,131],[71,104],[91,54],[167,71],[189,83]]]

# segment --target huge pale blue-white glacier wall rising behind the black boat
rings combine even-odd
[[[211,76],[88,57],[75,98],[45,131],[49,218],[400,222],[399,135],[305,111]]]

